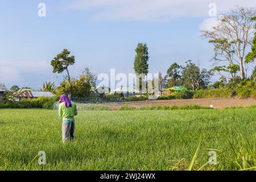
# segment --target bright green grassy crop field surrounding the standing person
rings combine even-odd
[[[57,110],[0,109],[0,130],[0,170],[185,170],[201,136],[193,170],[256,166],[256,107],[80,110],[65,144]]]

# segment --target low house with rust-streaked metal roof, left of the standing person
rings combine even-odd
[[[54,94],[52,94],[51,92],[26,90],[23,92],[19,92],[17,97],[20,101],[22,100],[22,98],[54,97]]]

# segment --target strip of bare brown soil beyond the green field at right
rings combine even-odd
[[[120,102],[104,104],[112,109],[119,109],[122,105],[134,107],[142,107],[148,105],[213,105],[216,109],[232,106],[250,106],[256,105],[256,100],[243,100],[236,98],[211,98],[211,99],[191,99],[191,100],[153,100],[153,101],[137,101],[137,102]]]

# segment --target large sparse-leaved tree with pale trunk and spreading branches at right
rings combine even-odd
[[[213,30],[202,31],[203,37],[214,45],[214,60],[227,62],[227,66],[238,64],[240,77],[245,78],[246,49],[252,40],[251,18],[256,15],[255,8],[236,7],[218,18],[218,26]]]

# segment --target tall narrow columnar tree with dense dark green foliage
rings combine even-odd
[[[148,73],[148,47],[145,43],[138,43],[137,48],[135,49],[136,56],[134,59],[134,71],[137,76],[139,76],[139,91],[142,96],[142,84],[143,84],[143,75],[147,75]]]

